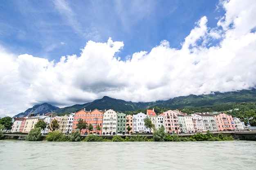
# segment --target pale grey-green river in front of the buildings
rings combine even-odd
[[[255,141],[0,140],[1,170],[256,170]]]

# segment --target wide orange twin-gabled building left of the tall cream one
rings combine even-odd
[[[73,123],[72,130],[73,131],[76,130],[78,121],[83,120],[83,121],[86,121],[87,126],[89,124],[92,124],[92,126],[93,126],[93,130],[90,131],[90,134],[97,133],[97,134],[101,135],[103,113],[104,113],[104,111],[98,110],[98,109],[94,109],[92,111],[91,110],[86,111],[84,108],[83,110],[79,110],[74,115],[74,123]],[[97,130],[97,125],[100,126],[100,128],[101,128],[100,130]],[[88,128],[81,130],[81,135],[88,135],[88,133],[89,133]]]

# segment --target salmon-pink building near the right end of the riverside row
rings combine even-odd
[[[223,112],[213,115],[216,119],[217,128],[219,131],[229,131],[236,129],[232,115]]]

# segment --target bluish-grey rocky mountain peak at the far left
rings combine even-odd
[[[43,115],[43,113],[49,113],[49,112],[52,112],[56,109],[59,109],[58,107],[56,106],[52,106],[50,104],[47,104],[47,103],[43,103],[43,104],[40,104],[40,105],[35,105],[33,106],[32,108],[29,108],[27,109],[25,112],[23,113],[19,113],[18,115],[15,115],[13,117],[26,117],[26,116],[29,116],[31,115],[31,113],[34,113],[34,115]]]

